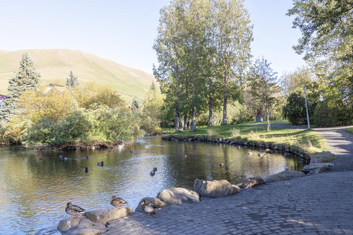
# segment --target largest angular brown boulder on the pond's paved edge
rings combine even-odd
[[[199,193],[201,197],[226,197],[237,193],[238,186],[231,185],[227,180],[205,181],[195,179],[194,191]]]

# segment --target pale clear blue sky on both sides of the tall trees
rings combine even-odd
[[[0,0],[0,50],[83,50],[152,73],[159,10],[153,1]],[[282,74],[305,64],[292,49],[300,32],[285,14],[291,0],[246,0],[254,25],[252,54],[262,54]]]

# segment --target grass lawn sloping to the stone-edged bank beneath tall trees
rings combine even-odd
[[[276,120],[271,123],[282,123],[287,120]],[[259,125],[264,126],[259,126]],[[329,151],[326,140],[314,130],[284,129],[271,127],[267,132],[266,123],[242,123],[237,125],[221,125],[197,128],[196,131],[184,130],[166,134],[173,137],[200,137],[200,138],[226,138],[229,140],[242,140],[250,142],[262,142],[273,144],[286,144],[294,151],[305,153],[318,153]]]

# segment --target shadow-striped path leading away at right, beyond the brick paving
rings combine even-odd
[[[353,134],[346,131],[349,126],[314,128],[322,137],[337,159],[332,171],[353,171]]]

